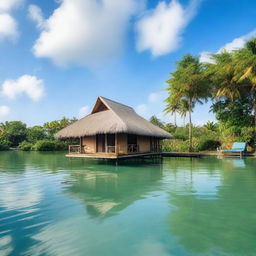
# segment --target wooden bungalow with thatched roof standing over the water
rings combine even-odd
[[[171,134],[153,125],[133,108],[98,97],[91,114],[62,129],[55,138],[79,138],[67,157],[128,158],[156,155]]]

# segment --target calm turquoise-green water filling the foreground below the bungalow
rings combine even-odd
[[[0,153],[0,255],[256,255],[256,159]]]

